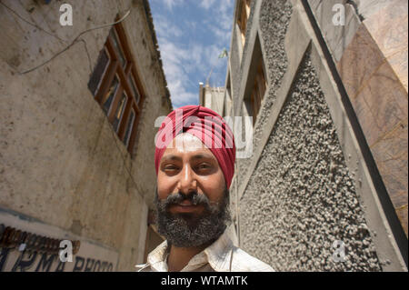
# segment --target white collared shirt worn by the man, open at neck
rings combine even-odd
[[[147,256],[147,263],[135,265],[137,272],[167,272],[167,241]],[[195,255],[181,272],[274,272],[264,262],[233,245],[227,231],[212,245]]]

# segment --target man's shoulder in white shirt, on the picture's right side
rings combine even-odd
[[[232,270],[234,272],[275,272],[271,265],[247,254],[241,248],[234,246],[232,251]]]

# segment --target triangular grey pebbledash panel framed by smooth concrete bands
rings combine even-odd
[[[240,201],[244,250],[280,271],[378,271],[374,245],[309,57]],[[347,261],[334,263],[335,240]]]

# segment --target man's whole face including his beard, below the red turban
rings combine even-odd
[[[231,221],[224,175],[199,139],[185,134],[174,141],[158,170],[157,229],[171,245],[206,245]]]

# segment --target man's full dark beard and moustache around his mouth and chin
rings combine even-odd
[[[169,211],[171,205],[178,205],[188,200],[192,205],[203,205],[204,211],[196,213],[177,213]],[[159,234],[164,235],[168,244],[177,247],[193,247],[213,243],[224,233],[231,222],[229,212],[229,191],[224,189],[224,195],[218,203],[212,204],[206,195],[191,192],[184,195],[180,192],[168,195],[159,200],[155,195],[156,224]]]

